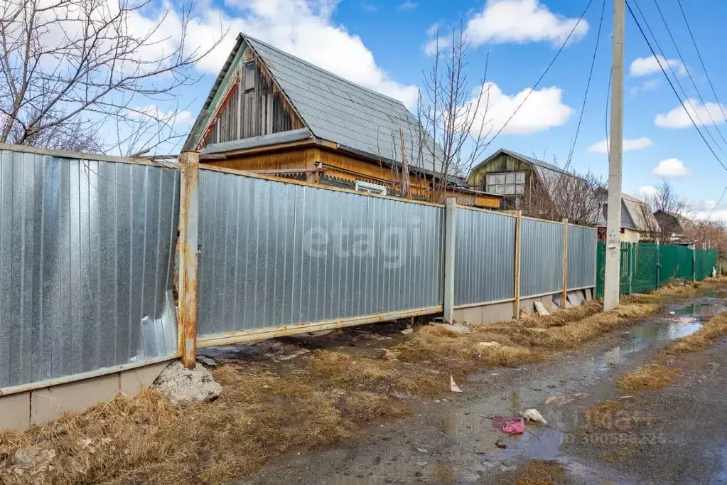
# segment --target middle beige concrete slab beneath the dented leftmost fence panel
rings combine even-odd
[[[52,388],[33,390],[31,395],[31,425],[54,420],[66,411],[80,411],[119,392],[119,373],[93,379],[68,382]]]

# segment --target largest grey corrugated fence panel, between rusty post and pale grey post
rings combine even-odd
[[[442,305],[444,209],[202,169],[198,333]]]

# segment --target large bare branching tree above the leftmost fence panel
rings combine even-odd
[[[176,144],[185,135],[174,127],[177,89],[198,81],[194,66],[219,40],[204,52],[189,47],[188,4],[145,27],[149,5],[4,0],[0,142],[127,155]]]

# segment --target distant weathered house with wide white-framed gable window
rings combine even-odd
[[[522,209],[530,205],[527,198],[538,185],[553,186],[563,176],[578,178],[553,164],[500,148],[472,169],[467,182],[502,196],[503,209]]]

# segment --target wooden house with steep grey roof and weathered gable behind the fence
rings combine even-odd
[[[499,208],[500,196],[449,173],[406,106],[240,34],[184,150],[203,164],[387,195]],[[403,159],[408,177],[403,175]]]

